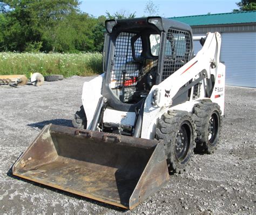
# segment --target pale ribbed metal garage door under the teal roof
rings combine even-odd
[[[222,33],[220,61],[226,65],[226,85],[256,87],[256,32]],[[200,50],[194,43],[194,53]]]

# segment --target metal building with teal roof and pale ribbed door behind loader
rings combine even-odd
[[[226,65],[226,85],[256,88],[256,11],[172,17],[189,24],[194,36],[221,33],[220,59]],[[200,50],[194,44],[194,53]]]

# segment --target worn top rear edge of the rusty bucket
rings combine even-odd
[[[117,145],[127,145],[130,147],[138,147],[138,148],[145,148],[145,149],[156,148],[156,146],[161,142],[159,140],[149,140],[145,138],[124,136],[120,134],[105,133],[105,132],[92,131],[92,130],[86,130],[86,129],[77,129],[77,128],[66,127],[66,126],[57,126],[55,124],[51,124],[50,133],[65,134],[68,136],[76,136],[79,138],[83,138],[83,137],[93,138],[109,144],[114,143]]]

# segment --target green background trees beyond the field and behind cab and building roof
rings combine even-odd
[[[119,11],[93,17],[79,10],[78,0],[0,1],[0,51],[102,52],[105,20],[133,18],[136,12]],[[255,0],[237,3],[239,10],[255,10]],[[156,16],[159,6],[149,0],[146,16]]]

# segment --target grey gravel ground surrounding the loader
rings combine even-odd
[[[45,124],[72,126],[89,79],[0,86],[0,214],[256,214],[256,89],[226,87],[226,117],[215,154],[196,154],[187,172],[172,175],[169,184],[132,211],[12,176],[12,164]]]

